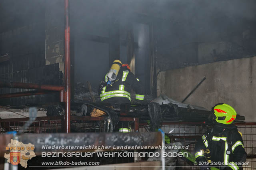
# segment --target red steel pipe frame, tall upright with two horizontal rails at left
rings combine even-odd
[[[70,132],[70,25],[69,25],[69,0],[65,0],[65,73],[64,86],[41,85],[35,83],[16,83],[16,82],[2,82],[0,81],[0,88],[20,88],[20,89],[34,89],[34,91],[26,91],[19,93],[1,94],[0,99],[30,95],[42,95],[46,93],[53,93],[58,91],[60,93],[60,102],[65,103],[65,127],[62,127],[66,133]]]

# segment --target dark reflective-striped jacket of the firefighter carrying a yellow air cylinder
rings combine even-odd
[[[104,76],[98,88],[100,100],[108,103],[130,103],[131,89],[136,92],[137,100],[144,100],[144,92],[139,79],[126,67],[121,67],[112,84],[108,85],[108,73]]]

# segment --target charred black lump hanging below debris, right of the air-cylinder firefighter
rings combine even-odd
[[[162,125],[161,107],[158,103],[148,104],[148,114],[150,116],[150,131],[154,132]]]

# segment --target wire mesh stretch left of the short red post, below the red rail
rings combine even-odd
[[[0,133],[19,131],[28,121],[28,118],[1,119]],[[64,128],[63,117],[38,117],[25,133],[58,133]],[[108,122],[107,122],[108,123]],[[71,132],[104,132],[105,117],[71,116]],[[114,124],[113,132],[119,128],[127,128],[129,132],[138,130],[138,118],[120,117],[118,124]]]

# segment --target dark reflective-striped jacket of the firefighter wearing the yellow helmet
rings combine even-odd
[[[220,169],[239,170],[238,162],[241,164],[246,160],[242,134],[232,124],[215,125],[196,143],[195,157],[198,162],[223,162],[224,167]]]

